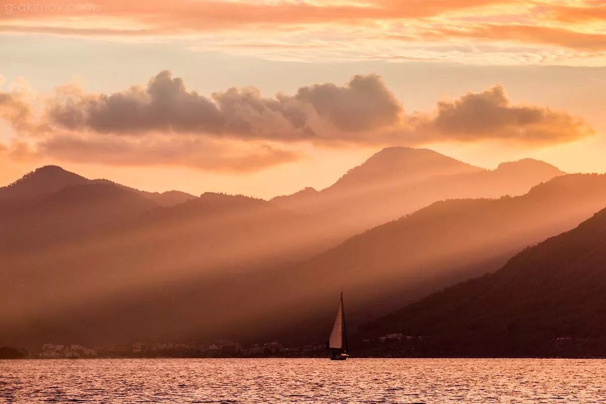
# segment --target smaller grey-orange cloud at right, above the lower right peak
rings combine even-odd
[[[494,139],[526,144],[571,142],[593,134],[581,119],[565,112],[511,105],[502,85],[439,102],[436,116],[416,130],[446,141]]]

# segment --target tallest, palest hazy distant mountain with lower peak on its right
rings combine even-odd
[[[484,170],[427,149],[389,147],[322,191],[305,188],[271,201],[324,217],[333,224],[336,238],[343,239],[438,200],[521,195],[562,174],[532,159]]]

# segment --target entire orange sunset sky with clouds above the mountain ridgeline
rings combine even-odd
[[[606,171],[604,1],[0,3],[0,185],[271,197],[390,145]]]

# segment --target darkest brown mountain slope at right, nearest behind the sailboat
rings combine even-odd
[[[525,249],[492,274],[368,323],[364,336],[414,336],[412,345],[427,356],[606,357],[604,318],[606,210]],[[367,349],[410,353],[410,345]]]

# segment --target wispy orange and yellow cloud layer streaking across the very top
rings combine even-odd
[[[190,51],[290,61],[422,59],[467,64],[601,65],[606,50],[599,24],[606,18],[602,3],[95,0],[75,4],[15,0],[0,11],[0,35],[43,33],[162,43],[178,39]],[[399,41],[394,41],[396,38]],[[483,51],[476,47],[478,39],[501,52],[493,55]],[[461,45],[474,52],[457,51]],[[450,49],[439,51],[435,47]],[[536,57],[528,58],[528,54]]]

